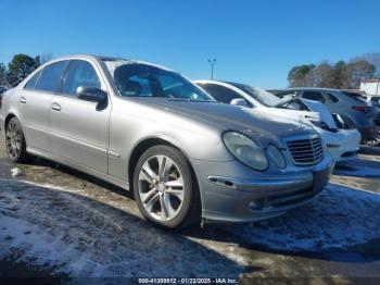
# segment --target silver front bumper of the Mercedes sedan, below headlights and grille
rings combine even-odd
[[[255,178],[252,170],[241,172],[246,166],[238,161],[221,166],[205,161],[191,163],[200,183],[202,218],[210,222],[252,222],[283,214],[322,191],[333,170],[329,156],[313,168],[290,168],[277,175],[255,172]],[[207,175],[203,170],[226,170],[233,175]]]

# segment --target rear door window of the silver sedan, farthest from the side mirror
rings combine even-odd
[[[47,92],[59,92],[62,74],[66,64],[67,61],[60,61],[46,66],[37,80],[35,89]]]

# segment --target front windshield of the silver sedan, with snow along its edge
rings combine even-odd
[[[125,60],[104,61],[123,97],[164,97],[191,101],[214,101],[205,91],[178,73]]]

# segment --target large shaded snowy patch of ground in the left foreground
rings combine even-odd
[[[73,277],[238,277],[243,271],[214,250],[77,193],[5,179],[0,189],[1,259]]]

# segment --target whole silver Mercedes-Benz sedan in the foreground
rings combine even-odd
[[[309,201],[332,160],[300,122],[217,103],[180,74],[144,62],[73,55],[2,97],[13,162],[66,164],[134,191],[164,227],[267,219]]]

